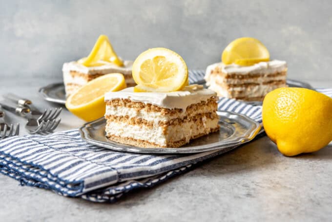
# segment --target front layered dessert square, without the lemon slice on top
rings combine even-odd
[[[108,92],[106,137],[137,147],[177,148],[219,130],[217,100],[200,85],[174,92]]]

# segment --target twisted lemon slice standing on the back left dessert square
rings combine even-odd
[[[100,35],[88,57],[84,57],[77,62],[86,67],[94,67],[104,65],[103,61],[113,63],[119,67],[124,66],[123,61],[118,57],[110,44],[108,37]]]

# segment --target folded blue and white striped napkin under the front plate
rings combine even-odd
[[[190,82],[204,76],[191,71]],[[332,89],[318,89],[332,97]],[[261,122],[261,107],[221,98],[218,108]],[[36,186],[69,197],[114,202],[128,191],[151,187],[189,170],[225,150],[191,155],[141,155],[87,144],[77,129],[47,136],[23,135],[0,142],[0,173],[21,185]]]

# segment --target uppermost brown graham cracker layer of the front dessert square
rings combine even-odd
[[[145,111],[145,112],[160,112],[161,115],[180,115],[182,113],[182,109],[167,109],[163,107],[159,107],[152,104],[145,104],[142,102],[134,102],[130,99],[112,99],[106,101],[106,106],[112,107],[125,107],[132,108],[136,111]],[[201,101],[196,104],[192,104],[187,107],[186,112],[187,116],[191,116],[192,114],[197,113],[197,111],[204,110],[204,108],[210,108],[213,111],[217,110],[217,102],[215,96],[210,97],[206,102]]]

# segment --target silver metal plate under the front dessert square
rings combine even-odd
[[[105,136],[106,120],[98,120],[84,124],[80,128],[82,139],[87,143],[115,151],[140,154],[189,154],[211,150],[237,147],[252,140],[259,133],[261,126],[249,117],[228,111],[217,111],[220,131],[192,140],[180,148],[139,148],[113,142]]]

